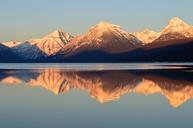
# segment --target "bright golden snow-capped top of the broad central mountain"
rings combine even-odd
[[[107,23],[101,21],[94,27],[91,27],[88,33],[86,33],[82,40],[86,40],[87,42],[104,42],[104,41],[130,41],[134,45],[141,44],[136,37],[129,34],[127,31],[124,31],[119,25]]]

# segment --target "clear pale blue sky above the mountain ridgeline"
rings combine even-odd
[[[192,0],[0,0],[0,42],[40,38],[62,29],[86,33],[100,21],[128,32],[160,31],[174,17],[193,25]]]

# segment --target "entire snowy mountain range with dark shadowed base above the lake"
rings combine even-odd
[[[161,31],[129,33],[100,22],[81,36],[56,30],[41,39],[0,43],[0,62],[193,62],[193,26],[172,18]]]

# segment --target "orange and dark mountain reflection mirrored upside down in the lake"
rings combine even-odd
[[[56,95],[72,89],[86,91],[99,103],[113,102],[126,94],[164,96],[172,107],[193,98],[193,72],[181,70],[102,70],[64,69],[1,70],[0,83],[41,87]]]

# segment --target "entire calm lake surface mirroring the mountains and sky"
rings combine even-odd
[[[0,64],[1,128],[192,128],[193,64]]]

